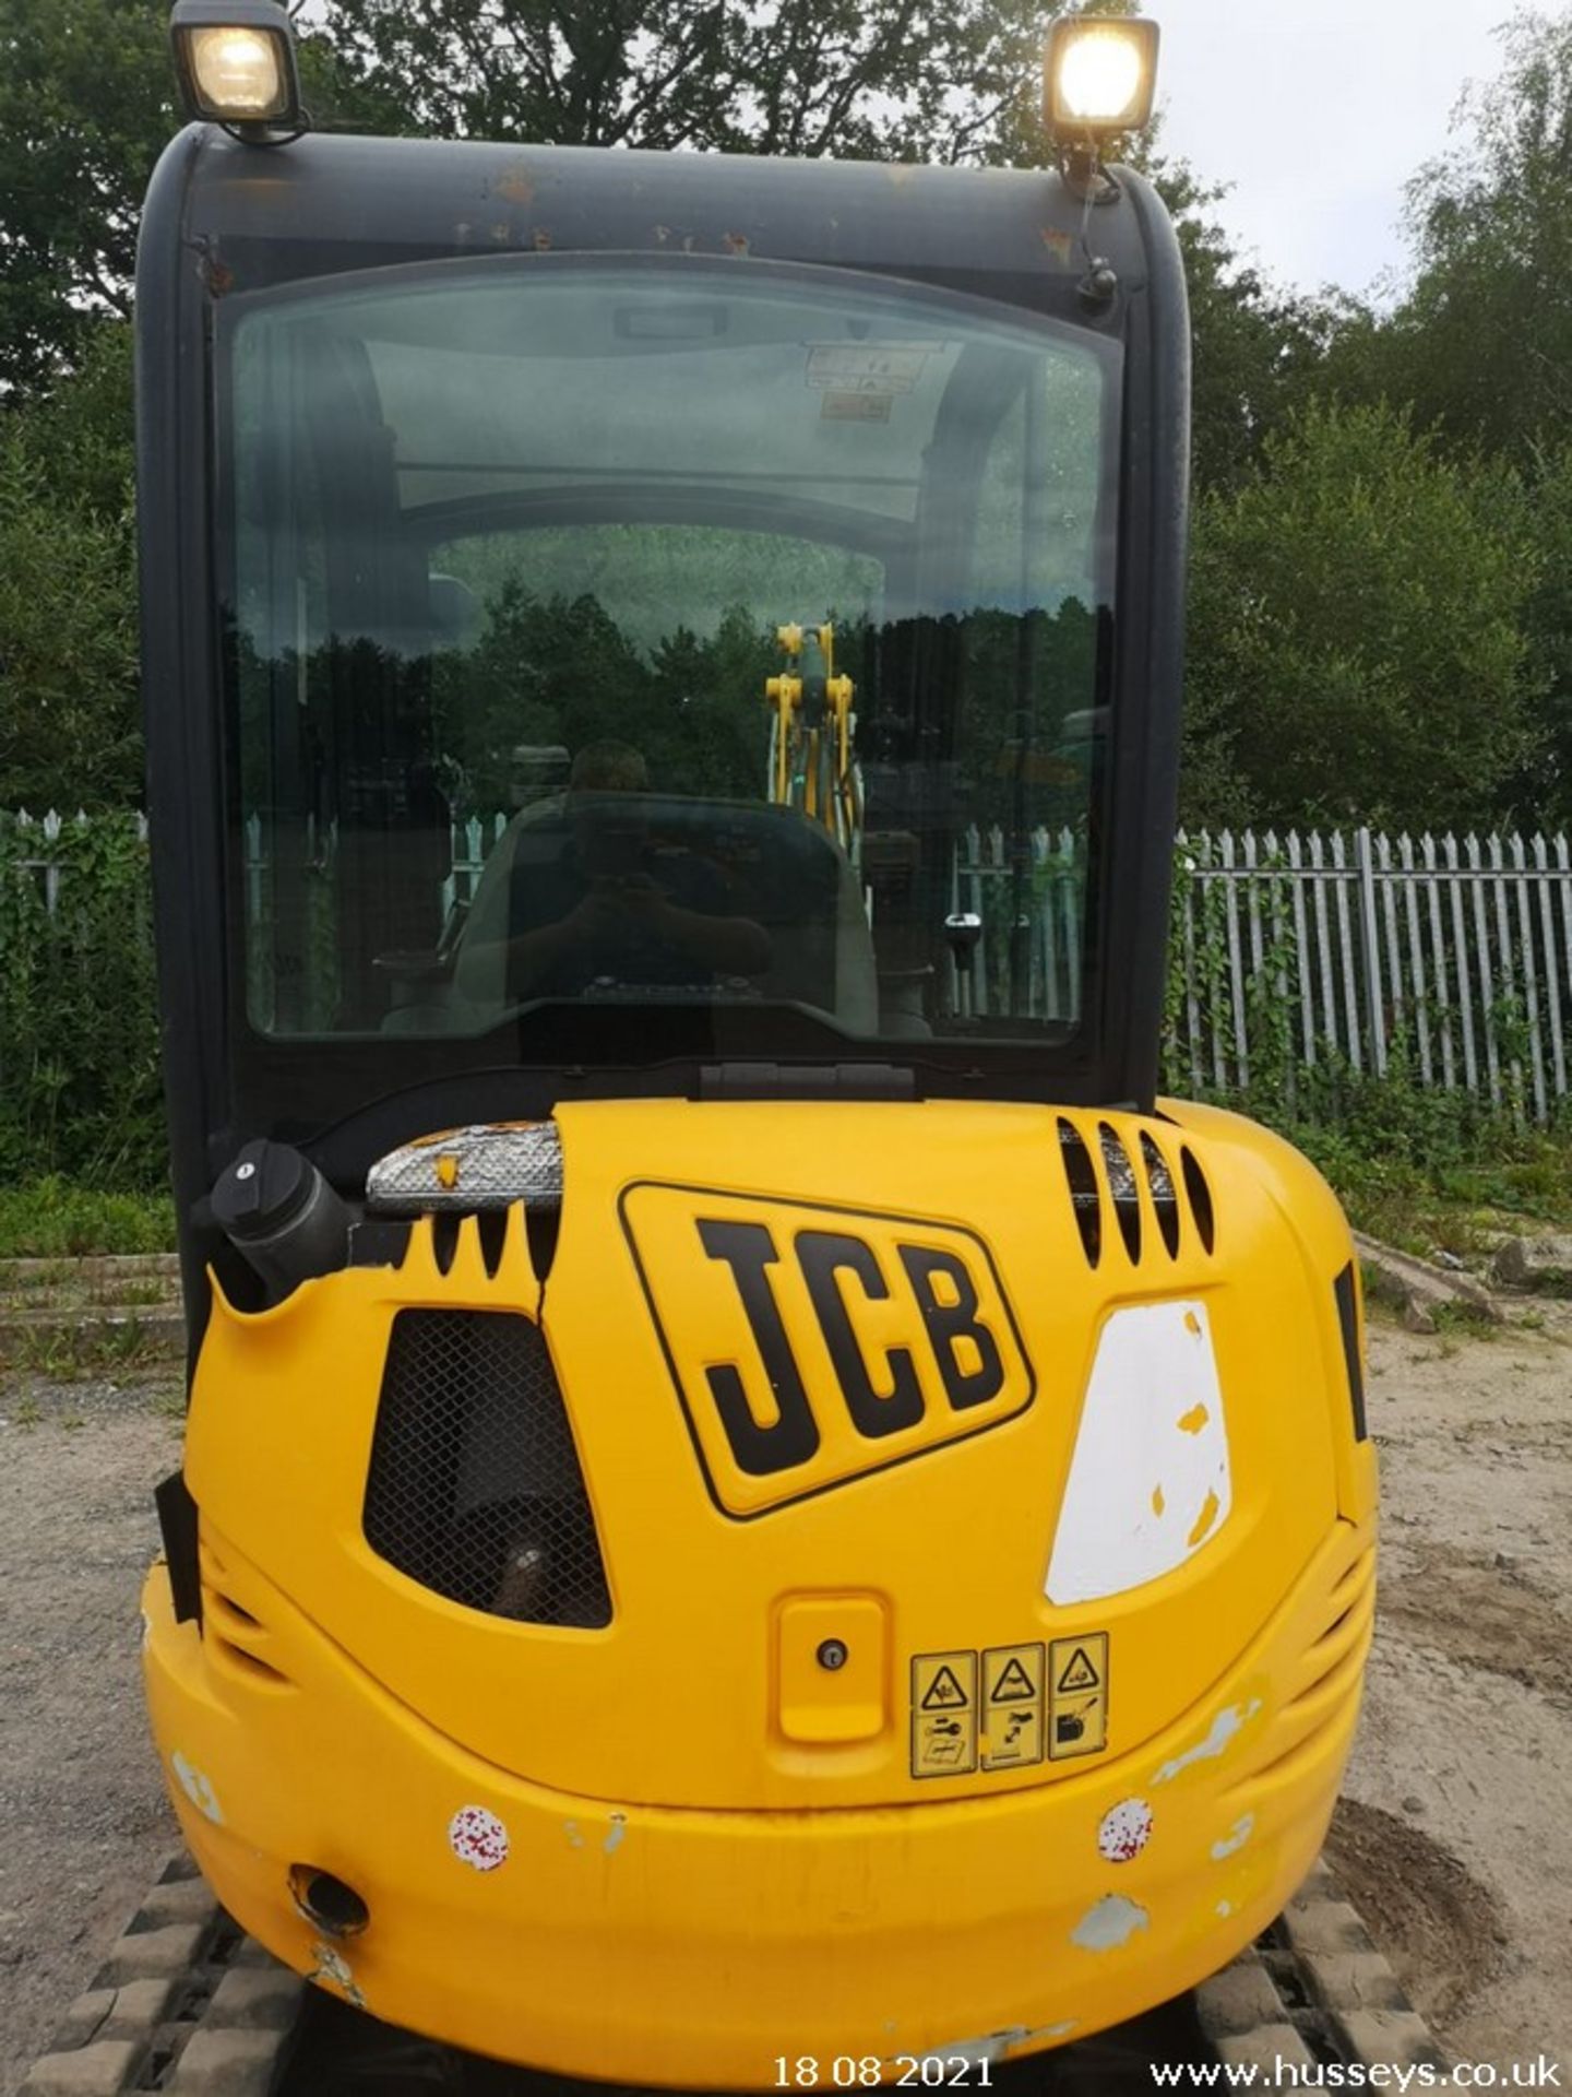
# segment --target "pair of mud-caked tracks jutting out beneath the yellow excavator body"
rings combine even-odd
[[[304,1990],[176,1856],[19,2097],[266,2097]],[[1218,2057],[1260,2068],[1264,2087],[1329,2061],[1448,2070],[1325,1864],[1195,2007]]]

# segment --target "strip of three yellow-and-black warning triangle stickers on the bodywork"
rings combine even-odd
[[[912,1657],[912,1776],[1025,1770],[1107,1745],[1107,1631]]]

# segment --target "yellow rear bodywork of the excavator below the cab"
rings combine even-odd
[[[1178,1105],[558,1126],[545,1279],[514,1210],[262,1315],[216,1292],[205,1623],[155,1571],[149,1673],[235,1912],[321,1965],[285,1889],[312,1862],[371,1906],[344,1957],[379,2015],[727,2087],[1052,2045],[1222,1963],[1318,1845],[1369,1640],[1325,1185]],[[407,1311],[539,1325],[604,1627],[367,1541]]]

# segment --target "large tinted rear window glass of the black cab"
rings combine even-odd
[[[738,1053],[788,1019],[832,1051],[1073,1036],[1115,346],[744,260],[237,304],[254,1036],[528,1059],[591,1009],[599,1042],[625,1015],[625,1061],[652,1009]]]

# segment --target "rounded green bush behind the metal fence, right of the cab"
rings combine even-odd
[[[1197,507],[1188,822],[1499,820],[1530,757],[1515,480],[1385,407],[1312,405]]]

